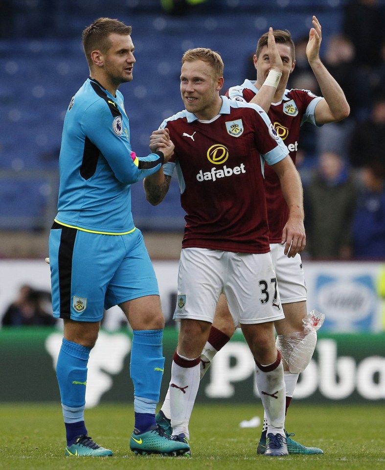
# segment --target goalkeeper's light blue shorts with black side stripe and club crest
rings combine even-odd
[[[140,230],[95,234],[55,223],[49,235],[56,318],[97,322],[104,309],[147,295],[158,282]]]

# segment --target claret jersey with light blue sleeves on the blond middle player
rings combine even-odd
[[[278,163],[289,151],[262,108],[222,101],[210,121],[184,110],[160,126],[175,145],[163,171],[178,175],[187,213],[182,246],[267,253],[264,162]]]

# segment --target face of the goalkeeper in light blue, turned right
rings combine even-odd
[[[119,86],[133,79],[134,44],[130,35],[112,33],[109,39],[111,47],[103,55],[104,71],[106,78]]]

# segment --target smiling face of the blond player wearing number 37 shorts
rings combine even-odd
[[[181,68],[181,96],[186,110],[199,119],[214,118],[221,109],[219,91],[223,77],[216,77],[213,68],[203,60],[184,62]]]

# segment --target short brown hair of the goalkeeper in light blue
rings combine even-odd
[[[92,67],[91,52],[93,50],[100,50],[106,53],[111,47],[110,34],[131,35],[131,32],[131,26],[111,18],[98,18],[90,26],[87,26],[82,34],[82,43],[90,68]]]

